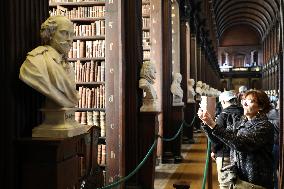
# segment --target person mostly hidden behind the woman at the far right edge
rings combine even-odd
[[[274,99],[276,100],[276,99]],[[278,163],[279,163],[279,99],[271,102],[271,110],[267,113],[268,120],[273,124],[274,128],[274,189],[278,189]]]

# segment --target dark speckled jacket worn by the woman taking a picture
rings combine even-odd
[[[230,147],[240,179],[273,189],[274,131],[266,115],[242,119],[227,128],[216,125],[212,134]]]

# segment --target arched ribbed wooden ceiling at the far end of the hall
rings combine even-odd
[[[279,0],[212,0],[218,37],[239,24],[253,27],[263,39],[279,18]]]

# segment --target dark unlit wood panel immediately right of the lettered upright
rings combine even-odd
[[[142,1],[126,0],[125,27],[125,171],[132,172],[139,164],[138,114],[142,105],[142,90],[138,88],[139,73],[143,62]],[[140,137],[147,137],[141,135]],[[138,174],[126,182],[127,187],[140,185]]]

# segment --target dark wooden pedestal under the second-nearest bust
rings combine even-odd
[[[139,162],[143,160],[156,140],[159,127],[158,114],[159,112],[140,112],[139,114]],[[156,153],[155,147],[149,158],[139,170],[138,186],[140,188],[154,189]]]

